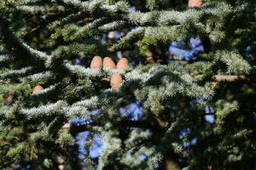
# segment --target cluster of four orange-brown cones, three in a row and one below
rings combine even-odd
[[[90,62],[91,69],[109,68],[123,70],[128,65],[128,59],[121,58],[117,65],[114,64],[113,59],[110,57],[105,57],[102,59],[100,56],[95,56]],[[118,90],[123,82],[123,77],[118,73],[115,73],[110,78],[110,86],[113,90]]]

